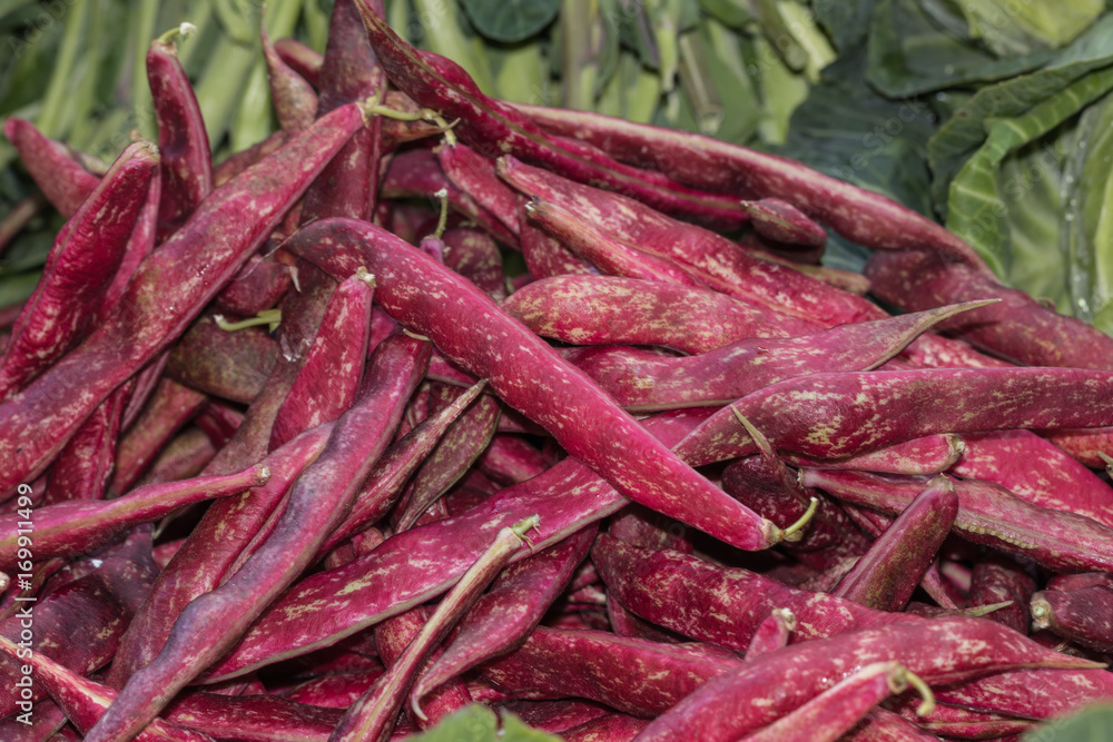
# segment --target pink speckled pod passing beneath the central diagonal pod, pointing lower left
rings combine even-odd
[[[699,419],[698,413],[683,413],[658,415],[644,424],[671,445]],[[587,466],[564,459],[465,513],[397,534],[349,564],[303,580],[264,612],[233,652],[210,667],[206,681],[239,675],[333,644],[424,603],[451,586],[500,527],[528,515],[541,516],[538,531],[530,534],[533,547],[541,550],[628,503]],[[397,578],[384,581],[377,574]],[[302,607],[316,601],[327,604],[327,610],[306,612]]]

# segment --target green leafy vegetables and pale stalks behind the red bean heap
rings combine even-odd
[[[155,137],[144,55],[179,43],[220,159],[276,128],[258,23],[322,51],[331,0],[0,0],[0,117],[110,161]],[[1104,0],[387,0],[487,93],[698,131],[884,192],[1006,283],[1113,330],[1113,19]],[[0,215],[33,198],[0,142]],[[0,308],[58,228],[0,255]],[[825,261],[865,251],[833,238]]]

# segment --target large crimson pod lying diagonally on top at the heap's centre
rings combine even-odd
[[[486,378],[506,404],[632,499],[739,548],[760,550],[782,538],[780,528],[676,458],[605,392],[474,285],[390,233],[365,222],[326,219],[303,228],[287,248],[312,256],[331,273],[365,260],[387,313],[427,335],[454,363]],[[460,324],[453,317],[473,319]]]

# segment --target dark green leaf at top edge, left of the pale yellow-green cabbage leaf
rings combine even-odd
[[[997,60],[944,31],[915,0],[881,0],[869,33],[869,81],[893,98],[1014,77],[1053,51]]]

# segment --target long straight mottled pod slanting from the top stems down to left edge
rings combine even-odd
[[[356,106],[337,109],[289,146],[203,201],[145,259],[112,314],[27,389],[0,404],[0,492],[41,473],[92,409],[181,334],[277,226],[325,162],[363,126]],[[252,214],[250,228],[229,221]],[[166,287],[174,300],[161,300]],[[28,439],[31,425],[43,434]]]

